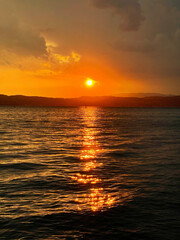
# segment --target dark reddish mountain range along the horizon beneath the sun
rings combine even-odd
[[[0,95],[0,106],[180,107],[180,96],[47,98]]]

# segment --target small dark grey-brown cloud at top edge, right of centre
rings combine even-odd
[[[99,9],[110,8],[120,15],[123,31],[137,31],[144,21],[138,0],[93,0],[93,4]]]

